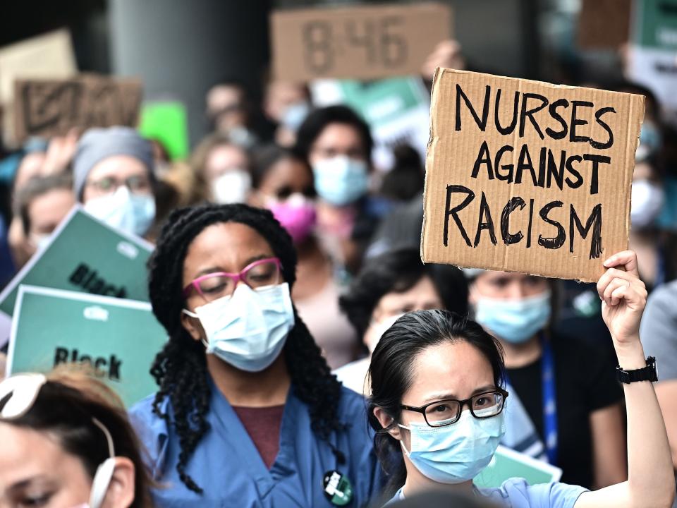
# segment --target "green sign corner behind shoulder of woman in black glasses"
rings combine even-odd
[[[509,478],[524,478],[529,485],[559,481],[562,470],[510,448],[499,446],[489,466],[472,480],[479,488],[498,488]]]

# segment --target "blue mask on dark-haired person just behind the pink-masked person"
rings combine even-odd
[[[369,171],[362,160],[338,155],[316,162],[312,172],[317,195],[330,205],[349,205],[369,190]]]

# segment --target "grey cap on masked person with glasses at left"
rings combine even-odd
[[[148,171],[151,183],[153,175],[153,148],[150,141],[142,138],[131,127],[90,128],[80,138],[73,159],[73,191],[82,199],[87,175],[99,162],[114,155],[129,155],[140,160]]]

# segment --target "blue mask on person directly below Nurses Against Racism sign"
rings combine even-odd
[[[531,339],[550,320],[550,291],[519,300],[485,298],[475,304],[475,321],[511,344]]]

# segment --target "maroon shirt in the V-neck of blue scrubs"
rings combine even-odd
[[[270,469],[280,449],[280,427],[284,405],[266,408],[233,406],[233,411],[252,438],[264,464]]]

